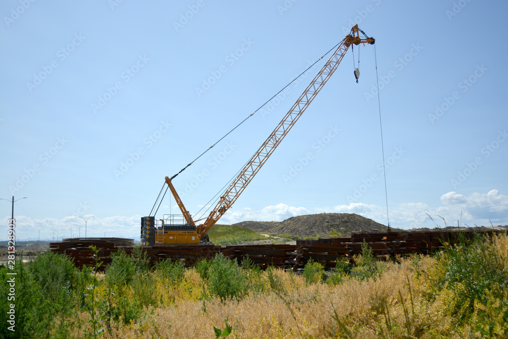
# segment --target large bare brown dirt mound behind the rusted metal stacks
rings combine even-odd
[[[383,232],[385,225],[351,213],[299,215],[281,222],[243,221],[235,225],[256,232],[283,233],[299,237],[339,237],[354,232]]]

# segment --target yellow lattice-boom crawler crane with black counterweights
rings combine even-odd
[[[362,33],[365,38],[360,37]],[[282,139],[288,134],[296,121],[300,118],[305,109],[315,98],[320,89],[325,85],[333,72],[337,69],[340,61],[346,54],[348,48],[352,45],[374,44],[374,38],[367,35],[355,25],[333,55],[328,59],[323,68],[312,79],[310,84],[305,88],[302,95],[295,102],[293,107],[282,118],[277,127],[268,136],[266,141],[261,145],[258,151],[250,158],[245,167],[240,171],[236,179],[230,184],[225,193],[220,197],[216,206],[208,215],[205,222],[196,226],[192,216],[183,205],[178,193],[171,182],[171,178],[166,177],[166,183],[173,194],[178,207],[180,208],[183,219],[180,225],[175,225],[174,220],[165,222],[162,220],[161,225],[156,225],[154,217],[141,218],[141,243],[143,245],[162,245],[162,244],[199,244],[208,241],[208,231],[215,223],[228,211],[233,203],[238,199],[243,190],[247,187],[252,178],[258,173],[261,167],[268,160],[275,148],[280,144]],[[359,71],[355,69],[355,77],[358,82]]]

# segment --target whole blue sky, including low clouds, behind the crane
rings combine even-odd
[[[20,239],[35,228],[76,236],[77,217],[91,215],[88,236],[138,239],[165,176],[358,23],[376,39],[391,225],[434,227],[426,213],[440,226],[508,224],[507,10],[474,0],[3,1],[0,197],[27,197],[15,203]],[[327,58],[174,179],[195,219]],[[354,60],[350,49],[219,223],[348,212],[386,225],[373,46]],[[0,211],[7,225],[10,203]],[[166,196],[157,216],[177,212]]]

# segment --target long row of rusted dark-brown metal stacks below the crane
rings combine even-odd
[[[476,232],[480,235],[499,231]],[[365,241],[379,260],[387,256],[411,253],[430,254],[441,250],[444,245],[460,240],[471,240],[471,231],[428,231],[428,232],[385,232],[354,233],[350,238],[330,238],[317,240],[298,240],[296,245],[160,245],[143,247],[152,261],[171,258],[180,260],[186,266],[192,266],[201,259],[212,259],[221,253],[225,257],[241,262],[247,256],[262,268],[275,267],[302,269],[310,260],[323,263],[325,267],[335,266],[335,260],[341,257],[351,258],[362,253]],[[111,263],[111,253],[120,248],[131,254],[134,240],[125,238],[72,238],[50,244],[56,253],[65,253],[74,259],[76,266],[94,264],[90,245],[99,250],[98,259],[103,262],[102,269]]]

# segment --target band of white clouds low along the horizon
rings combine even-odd
[[[496,225],[508,224],[508,196],[499,194],[497,190],[491,190],[488,193],[472,193],[468,196],[457,192],[448,192],[441,196],[440,206],[431,207],[422,202],[400,203],[391,206],[390,224],[396,228],[421,228],[434,227],[434,223],[439,227],[444,227],[444,218],[448,226],[457,225],[457,221],[462,225],[488,226],[490,221]],[[234,224],[241,221],[283,221],[295,217],[319,212],[335,213],[356,213],[363,217],[372,219],[378,223],[386,225],[386,207],[373,204],[351,203],[348,205],[337,205],[333,207],[320,207],[309,210],[305,207],[288,206],[283,203],[266,206],[261,210],[253,208],[243,208],[240,210],[230,209],[219,223]],[[428,217],[432,217],[433,221]],[[84,217],[89,217],[85,215]],[[8,218],[4,218],[7,225]],[[133,238],[139,240],[140,237],[140,215],[123,217],[120,215],[91,218],[87,223],[88,237],[102,237],[106,232],[107,237]],[[78,228],[74,226],[83,225],[83,220],[77,217],[64,217],[61,219],[46,218],[32,219],[25,216],[16,217],[16,238],[37,239],[38,231],[36,228],[44,228],[41,231],[41,239],[52,239],[53,232],[58,231],[58,235],[67,238],[71,236],[70,228],[74,236],[78,236]],[[81,228],[81,236],[84,236],[84,227]],[[0,239],[7,239],[7,232]]]

